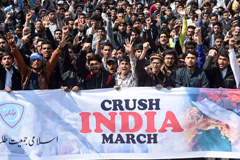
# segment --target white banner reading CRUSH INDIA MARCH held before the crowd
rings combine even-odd
[[[240,91],[0,92],[0,159],[240,157]]]

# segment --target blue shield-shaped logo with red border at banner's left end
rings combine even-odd
[[[16,129],[21,123],[26,107],[17,102],[0,103],[0,120],[9,129]]]

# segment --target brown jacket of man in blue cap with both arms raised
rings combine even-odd
[[[15,46],[15,44],[11,44],[10,46],[11,46],[11,52],[13,53],[14,58],[17,62],[18,70],[22,76],[22,79],[21,79],[22,89],[25,90],[28,86],[33,70],[26,66],[22,58],[22,55],[19,52],[18,48]],[[41,89],[48,89],[50,76],[57,64],[57,61],[60,55],[61,55],[61,50],[57,48],[53,52],[46,67],[38,73],[38,85]]]

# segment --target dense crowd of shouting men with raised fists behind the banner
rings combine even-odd
[[[0,89],[238,89],[239,3],[2,0]]]

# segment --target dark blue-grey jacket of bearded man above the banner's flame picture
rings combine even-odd
[[[177,70],[175,78],[175,87],[181,86],[208,88],[209,81],[202,69],[196,67],[195,72],[191,73],[187,67],[184,67]]]

